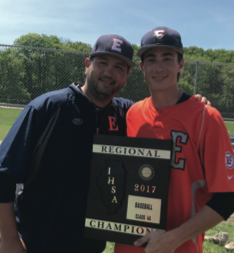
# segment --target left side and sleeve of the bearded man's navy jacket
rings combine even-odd
[[[28,104],[0,146],[0,202],[15,199],[29,253],[77,253],[83,243],[95,106],[74,85]]]

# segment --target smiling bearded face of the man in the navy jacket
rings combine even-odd
[[[126,84],[130,75],[127,63],[110,55],[85,60],[87,91],[96,99],[114,97]]]

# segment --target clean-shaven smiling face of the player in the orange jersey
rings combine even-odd
[[[178,54],[173,49],[154,47],[145,52],[140,67],[150,88],[160,91],[177,85],[177,74],[183,69],[184,60],[178,63]]]

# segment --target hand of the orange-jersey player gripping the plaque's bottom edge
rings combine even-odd
[[[145,247],[146,253],[173,253],[179,245],[175,245],[176,238],[172,231],[159,232],[154,231],[146,234],[144,237],[135,241],[135,246],[142,246],[148,242]]]

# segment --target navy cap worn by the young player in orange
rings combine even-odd
[[[141,49],[137,52],[137,56],[141,57],[146,50],[153,47],[168,47],[184,54],[180,34],[165,26],[156,27],[142,37]]]

